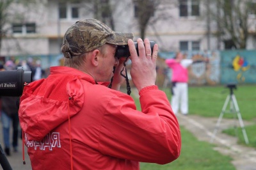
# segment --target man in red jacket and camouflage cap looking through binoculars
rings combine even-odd
[[[19,118],[33,169],[140,169],[180,155],[180,129],[165,93],[157,88],[157,45],[116,33],[95,19],[68,28],[61,51],[65,66],[31,82],[20,98]],[[128,45],[131,77],[141,111],[119,91],[124,78],[118,45]],[[152,54],[152,55],[151,55]],[[115,67],[115,73],[113,73]],[[109,82],[113,77],[112,86]]]

